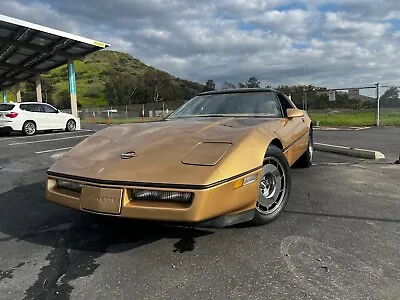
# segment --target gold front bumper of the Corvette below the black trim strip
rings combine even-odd
[[[183,186],[180,188],[179,185],[175,185],[174,188],[151,188],[151,190],[157,191],[193,193],[193,198],[187,203],[166,200],[137,200],[133,198],[131,191],[148,189],[147,187],[93,183],[90,179],[68,179],[84,186],[82,192],[72,191],[57,185],[57,179],[63,179],[62,176],[49,175],[46,185],[46,199],[63,206],[95,214],[177,222],[186,225],[199,224],[200,227],[224,227],[252,219],[261,180],[259,173],[260,170],[254,170],[241,177],[235,177],[230,181],[208,188],[187,189]],[[239,188],[235,186],[239,180],[254,174],[257,175],[254,182]],[[85,186],[88,188],[85,189]],[[120,194],[114,193],[115,197],[108,193],[117,190],[120,191]],[[83,195],[84,193],[85,195]],[[91,199],[90,205],[87,205],[87,199]],[[111,207],[110,203],[116,199],[118,203],[112,204],[113,207]]]

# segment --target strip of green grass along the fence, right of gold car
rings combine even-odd
[[[373,126],[375,110],[309,111],[321,126]],[[380,125],[400,126],[400,109],[381,109]]]

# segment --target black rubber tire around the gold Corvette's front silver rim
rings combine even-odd
[[[265,158],[267,158],[267,157],[274,157],[274,158],[278,159],[280,161],[280,163],[282,164],[283,171],[285,172],[285,176],[286,176],[286,187],[285,187],[286,194],[285,194],[281,204],[279,205],[279,207],[270,214],[264,214],[264,213],[261,213],[260,211],[258,211],[257,208],[255,209],[255,214],[254,214],[252,223],[256,224],[256,225],[263,225],[263,224],[269,223],[269,222],[275,220],[282,213],[282,211],[284,210],[284,208],[289,200],[291,186],[292,186],[290,167],[289,167],[287,159],[286,159],[285,155],[283,154],[282,150],[280,150],[278,147],[276,147],[274,145],[270,145],[268,147],[267,153],[265,155]]]

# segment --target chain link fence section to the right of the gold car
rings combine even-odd
[[[337,89],[304,86],[289,95],[316,125],[399,126],[399,91],[400,86],[380,84]]]

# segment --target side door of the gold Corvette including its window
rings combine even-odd
[[[296,108],[291,101],[282,93],[277,93],[282,107],[283,122],[282,132],[288,138],[285,151],[291,160],[297,160],[307,149],[308,129],[304,117],[288,118],[287,109]]]

